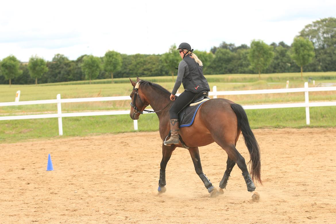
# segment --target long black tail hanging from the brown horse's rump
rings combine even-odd
[[[243,138],[245,141],[245,145],[249,150],[250,153],[250,162],[252,162],[252,167],[250,170],[250,174],[252,177],[252,180],[258,180],[260,184],[261,178],[260,178],[260,150],[257,140],[254,137],[254,134],[250,128],[249,121],[247,119],[246,113],[244,108],[236,103],[230,104],[233,111],[235,111],[237,120],[238,120],[238,126],[242,130]]]

